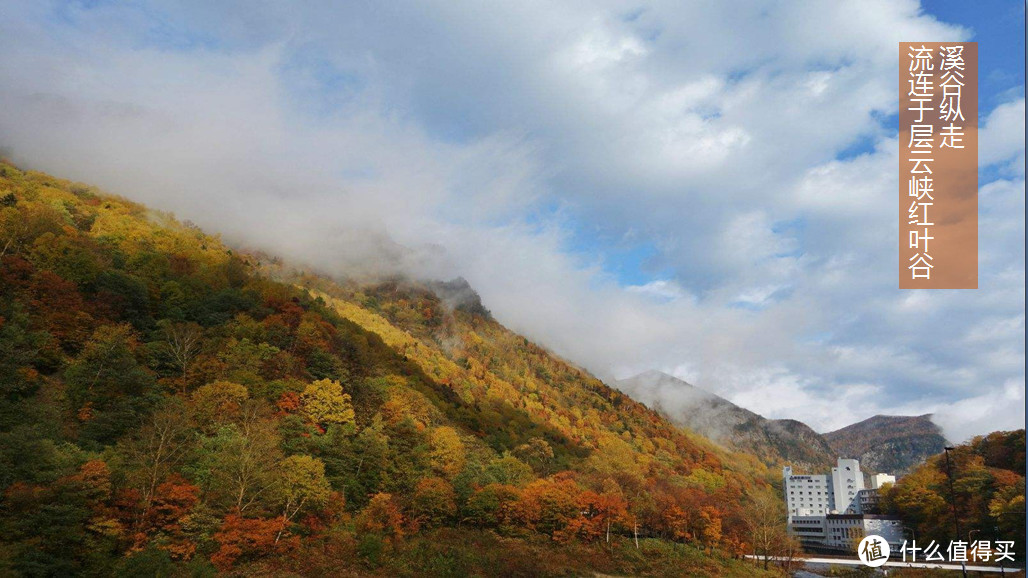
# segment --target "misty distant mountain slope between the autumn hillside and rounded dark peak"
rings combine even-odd
[[[729,447],[754,454],[768,465],[787,463],[818,471],[835,462],[828,442],[805,424],[767,420],[671,375],[648,371],[619,381],[617,387],[676,424]]]

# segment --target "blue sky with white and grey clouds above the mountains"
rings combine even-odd
[[[1024,424],[1019,1],[3,1],[0,147],[604,380]],[[981,289],[896,289],[896,43],[980,43]],[[664,400],[673,406],[674,399]]]

